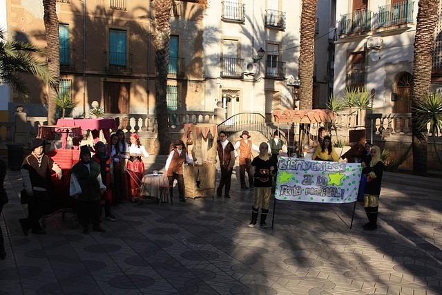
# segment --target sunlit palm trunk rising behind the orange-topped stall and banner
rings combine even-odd
[[[300,28],[299,79],[300,110],[309,110],[313,105],[313,74],[315,64],[315,26],[318,0],[303,0]]]

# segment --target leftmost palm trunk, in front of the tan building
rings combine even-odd
[[[48,68],[57,83],[55,87],[50,86],[48,90],[48,124],[55,124],[55,98],[58,92],[60,79],[60,53],[59,53],[59,23],[57,17],[56,0],[43,0],[44,6],[44,27],[46,29],[46,57]]]

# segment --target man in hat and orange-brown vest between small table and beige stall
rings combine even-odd
[[[178,193],[180,193],[180,201],[186,202],[186,196],[184,196],[184,176],[182,175],[182,164],[187,162],[193,164],[196,158],[189,158],[184,142],[182,140],[175,140],[173,144],[174,148],[169,154],[166,161],[167,178],[169,178],[169,184],[173,185],[173,181],[176,179],[178,182]],[[171,198],[173,198],[173,189],[171,189]]]

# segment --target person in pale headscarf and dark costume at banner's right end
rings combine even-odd
[[[378,200],[381,194],[384,164],[381,160],[381,149],[379,149],[379,146],[373,146],[370,153],[372,160],[369,163],[362,162],[362,173],[367,178],[364,189],[364,209],[369,220],[364,225],[364,229],[375,230],[378,228]]]

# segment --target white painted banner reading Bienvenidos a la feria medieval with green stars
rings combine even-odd
[[[275,198],[323,203],[356,202],[361,175],[359,163],[280,157]]]

